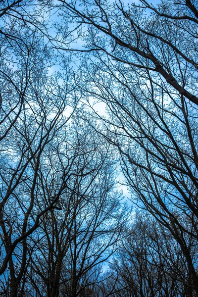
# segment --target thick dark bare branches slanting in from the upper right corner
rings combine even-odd
[[[136,72],[155,73],[155,83],[159,80],[198,104],[198,10],[193,2],[168,0],[156,7],[146,0],[140,0],[142,6],[121,1],[59,2],[62,16],[69,14],[76,25],[75,38],[88,28],[82,35],[87,49],[82,51],[103,52]]]

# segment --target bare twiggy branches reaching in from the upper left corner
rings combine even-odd
[[[44,43],[44,36],[49,36],[48,21],[45,2],[0,1],[0,141],[16,123],[25,104],[31,67],[39,63],[41,68],[47,68],[46,61],[52,59],[52,52]],[[23,84],[18,75],[23,76]]]

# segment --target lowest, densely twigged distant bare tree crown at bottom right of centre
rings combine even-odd
[[[196,242],[190,239],[197,261]],[[164,226],[138,212],[100,284],[102,296],[196,296],[181,247]],[[103,285],[103,286],[102,286]]]

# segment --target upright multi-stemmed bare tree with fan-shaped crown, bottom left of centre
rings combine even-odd
[[[83,296],[98,281],[100,264],[116,249],[127,217],[121,194],[113,192],[115,173],[109,145],[104,146],[82,121],[75,121],[70,130],[67,149],[63,141],[61,154],[55,154],[59,159],[55,167],[62,170],[68,156],[75,156],[69,178],[58,206],[46,214],[32,235],[27,273],[39,296]],[[51,180],[58,182],[54,175]],[[49,182],[45,184],[47,187]]]

